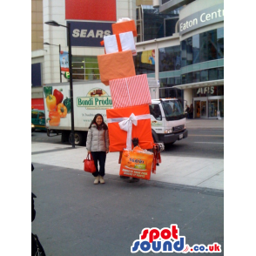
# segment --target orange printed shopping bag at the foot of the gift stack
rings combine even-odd
[[[138,179],[151,179],[153,153],[124,151],[119,175]]]

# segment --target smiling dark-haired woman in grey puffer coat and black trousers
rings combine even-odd
[[[109,132],[108,126],[104,123],[104,118],[101,114],[96,114],[91,125],[86,140],[86,149],[92,155],[96,172],[92,175],[95,177],[94,184],[104,184],[104,164],[106,154],[109,152]],[[98,170],[99,164],[99,170]]]

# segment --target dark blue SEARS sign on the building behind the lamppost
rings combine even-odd
[[[112,23],[68,22],[71,24],[71,45],[104,47],[100,44],[104,36],[112,34]]]

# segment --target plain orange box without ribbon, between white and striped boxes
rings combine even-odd
[[[136,76],[131,51],[119,51],[98,55],[100,80],[109,85],[109,80]]]

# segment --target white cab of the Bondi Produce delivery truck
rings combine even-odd
[[[152,99],[150,113],[155,142],[173,144],[187,137],[185,113],[177,98]]]

